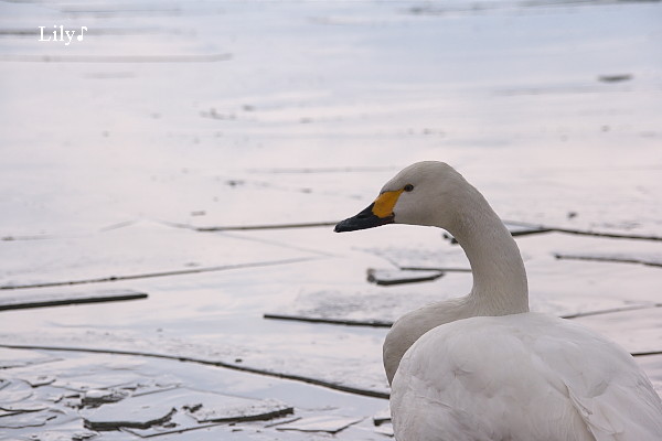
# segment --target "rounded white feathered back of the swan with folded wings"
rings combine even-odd
[[[403,357],[398,441],[662,439],[662,404],[623,349],[537,313],[438,326]]]

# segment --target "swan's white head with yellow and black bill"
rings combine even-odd
[[[476,189],[450,165],[436,161],[417,162],[388,181],[367,208],[339,223],[335,232],[394,223],[448,229],[457,220],[459,202],[473,192]]]

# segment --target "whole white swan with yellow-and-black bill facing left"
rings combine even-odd
[[[392,223],[448,230],[473,275],[468,295],[409,312],[386,336],[398,441],[662,440],[662,402],[629,353],[528,311],[517,245],[460,173],[409,165],[335,232]]]

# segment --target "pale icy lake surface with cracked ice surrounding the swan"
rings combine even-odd
[[[466,269],[461,249],[407,226],[200,228],[333,223],[435,159],[505,219],[662,237],[661,22],[656,2],[0,1],[0,299],[149,294],[1,311],[0,439],[139,439],[78,411],[139,388],[295,409],[161,439],[387,439],[385,399],[330,389],[387,394],[386,330],[263,314],[392,321],[471,276],[367,269]],[[88,33],[39,41],[61,24]],[[517,244],[532,309],[662,351],[662,241]],[[662,391],[662,356],[637,359]]]

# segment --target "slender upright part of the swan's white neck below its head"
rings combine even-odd
[[[528,288],[520,249],[490,204],[471,190],[450,232],[471,263],[473,288],[467,300],[476,315],[526,312]]]

